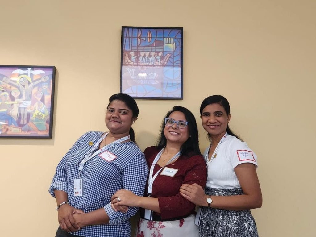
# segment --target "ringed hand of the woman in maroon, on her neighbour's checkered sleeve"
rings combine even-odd
[[[111,197],[112,208],[121,211],[119,207],[127,206],[137,207],[139,196],[135,195],[133,192],[125,189],[121,189],[113,194]],[[128,210],[128,209],[127,209]],[[127,211],[125,209],[125,212]],[[123,211],[124,212],[124,211]]]

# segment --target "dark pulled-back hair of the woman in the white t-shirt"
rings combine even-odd
[[[205,99],[202,101],[202,104],[201,104],[201,107],[200,107],[200,114],[201,114],[201,116],[202,116],[203,109],[204,109],[206,106],[210,105],[210,104],[219,104],[219,105],[223,106],[223,108],[225,109],[225,112],[226,112],[227,115],[230,114],[230,106],[229,106],[228,100],[227,100],[224,96],[222,96],[222,95],[211,95],[211,96],[205,98]],[[238,137],[236,134],[234,134],[234,133],[230,130],[230,128],[229,128],[228,125],[227,125],[227,128],[226,128],[226,132],[227,132],[229,135],[232,135],[232,136],[234,136],[234,137],[237,137],[238,139],[241,140],[240,137]],[[209,138],[209,140],[211,140],[210,134],[208,134],[208,138]]]

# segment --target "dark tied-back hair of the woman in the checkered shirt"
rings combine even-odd
[[[109,104],[107,105],[107,107],[109,107],[109,105],[111,104],[111,102],[113,100],[123,101],[125,103],[125,105],[132,111],[133,119],[136,119],[138,117],[139,109],[138,109],[137,103],[130,95],[124,94],[124,93],[117,93],[117,94],[111,95],[111,97],[109,99]],[[134,143],[136,143],[135,133],[134,133],[134,130],[132,129],[132,127],[130,128],[129,133],[130,133],[130,139]]]

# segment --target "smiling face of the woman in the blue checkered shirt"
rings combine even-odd
[[[113,134],[129,133],[135,120],[132,110],[121,100],[113,100],[107,107],[105,124]]]

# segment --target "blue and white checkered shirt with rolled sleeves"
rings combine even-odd
[[[130,236],[129,218],[135,215],[138,207],[129,208],[126,214],[115,212],[111,208],[111,197],[119,189],[143,196],[148,166],[143,152],[135,143],[119,143],[110,147],[108,151],[117,156],[112,161],[106,161],[99,155],[87,161],[81,174],[83,195],[74,196],[74,179],[78,178],[79,164],[102,134],[99,131],[87,132],[76,141],[59,162],[49,192],[53,197],[54,190],[67,192],[71,206],[84,212],[104,207],[110,218],[109,224],[86,226],[72,234],[86,237]]]

